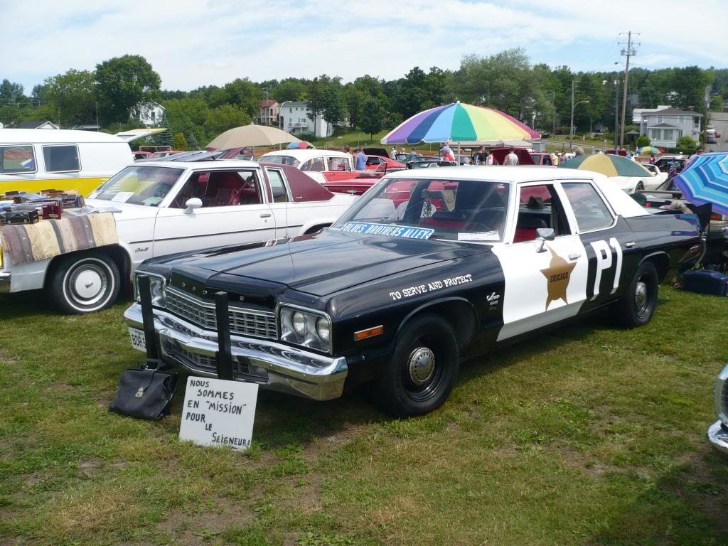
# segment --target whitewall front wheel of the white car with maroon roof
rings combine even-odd
[[[46,290],[62,313],[100,311],[116,301],[121,277],[116,262],[103,252],[91,251],[59,258]]]

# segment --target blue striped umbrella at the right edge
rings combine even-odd
[[[675,177],[683,197],[693,205],[711,203],[713,210],[728,215],[728,152],[702,154]]]

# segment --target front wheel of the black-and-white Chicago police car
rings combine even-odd
[[[434,314],[416,317],[397,336],[395,351],[379,379],[379,403],[398,417],[430,413],[450,395],[459,364],[451,325]]]

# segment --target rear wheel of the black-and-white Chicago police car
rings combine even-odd
[[[654,264],[642,262],[625,293],[612,305],[612,319],[625,328],[646,325],[652,320],[659,290]]]

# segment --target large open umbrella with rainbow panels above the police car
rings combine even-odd
[[[415,114],[381,143],[530,141],[540,136],[502,111],[456,102]]]

